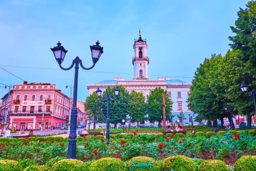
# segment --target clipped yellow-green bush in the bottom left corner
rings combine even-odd
[[[20,171],[23,170],[20,162],[15,160],[0,160],[0,170],[2,171]]]

